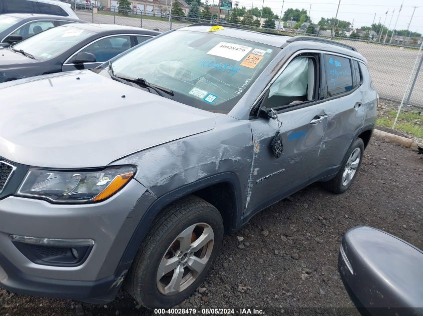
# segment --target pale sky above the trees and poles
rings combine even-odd
[[[212,2],[212,0],[209,0]],[[214,0],[215,3],[218,0]],[[352,22],[354,19],[354,27],[363,25],[370,25],[373,21],[377,23],[380,17],[380,23],[385,20],[385,25],[388,26],[391,20],[392,29],[398,16],[399,7],[403,2],[401,12],[399,14],[397,29],[406,29],[410,21],[413,6],[417,6],[414,12],[409,29],[423,33],[423,1],[421,0],[341,0],[339,5],[338,18]],[[371,3],[371,4],[370,4]],[[318,22],[320,17],[334,17],[338,0],[285,0],[283,11],[288,8],[310,9],[310,16],[313,22]],[[262,0],[239,0],[239,5],[245,5],[250,8],[252,5],[261,8]],[[273,12],[280,14],[282,8],[282,0],[264,0],[264,6],[272,8]],[[419,6],[419,7],[418,7]],[[392,15],[392,10],[395,10]],[[376,15],[374,14],[376,13]]]

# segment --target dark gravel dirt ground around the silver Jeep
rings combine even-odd
[[[336,266],[342,234],[370,225],[423,249],[423,155],[373,138],[348,192],[318,184],[255,216],[180,307],[258,308],[267,315],[358,315]],[[201,292],[201,294],[200,294]],[[106,306],[0,289],[0,315],[150,315],[124,292]]]

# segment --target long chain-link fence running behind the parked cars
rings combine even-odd
[[[135,11],[131,11],[129,14],[122,14],[119,13],[117,8],[112,7],[102,8],[101,10],[77,10],[76,12],[81,19],[88,22],[137,26],[161,32],[204,21],[185,16],[175,16],[169,19],[169,15],[165,12],[162,13],[160,10],[149,13],[140,11],[138,14]],[[216,20],[212,22],[227,23],[227,21]],[[239,26],[245,27],[245,25]],[[292,36],[317,36],[316,34],[266,30],[250,26],[248,28]],[[318,35],[318,37],[324,36]],[[330,39],[330,37],[326,38]],[[333,37],[333,40],[355,47],[367,58],[373,83],[381,98],[401,102],[405,89],[407,89],[407,86],[408,89],[410,87],[410,85],[407,85],[409,78],[413,79],[416,71],[418,71],[418,68],[414,67],[419,52],[418,46],[383,44],[345,37]],[[420,58],[422,57],[420,56]],[[408,91],[405,91],[405,93],[408,94]],[[409,104],[423,107],[423,70],[417,73]]]

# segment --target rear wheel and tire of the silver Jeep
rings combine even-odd
[[[355,160],[352,159],[353,163],[351,163],[350,158],[352,158],[352,155],[353,154],[355,155],[358,150],[359,150],[359,154],[357,155],[357,158],[359,157],[358,163],[356,163],[356,159]],[[341,163],[341,168],[339,169],[337,175],[333,179],[327,182],[324,182],[323,186],[327,190],[336,194],[344,193],[346,190],[348,190],[348,188],[351,186],[360,168],[361,161],[363,160],[363,153],[364,153],[363,140],[361,138],[357,138],[349,147],[348,151],[346,152],[345,157]],[[356,168],[353,168],[353,165],[355,165]],[[344,173],[346,172],[348,174],[347,168],[349,168],[349,170],[355,169],[355,171],[352,174],[349,174],[350,180],[346,182],[346,180],[348,179],[344,177]]]

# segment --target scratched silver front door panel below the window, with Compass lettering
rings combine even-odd
[[[263,200],[283,196],[284,192],[308,183],[310,172],[319,169],[320,145],[327,118],[317,124],[310,124],[310,121],[324,115],[323,104],[278,114],[283,144],[279,158],[270,148],[278,122],[268,118],[251,120],[254,150],[246,214],[254,212]]]

